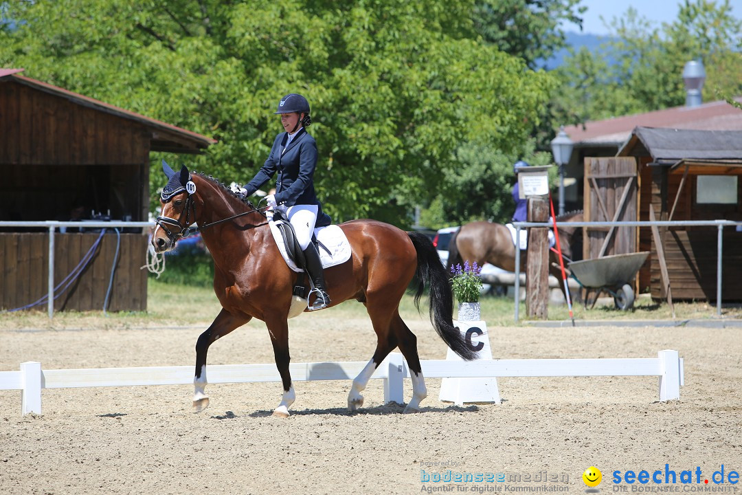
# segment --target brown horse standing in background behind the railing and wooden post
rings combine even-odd
[[[565,222],[582,222],[582,211],[569,212],[557,217],[559,245],[562,247],[562,255],[567,258],[566,269],[567,261],[582,259],[582,227],[570,227],[565,225]],[[526,254],[527,251],[521,252],[521,273],[525,272]],[[494,222],[472,222],[462,226],[451,237],[448,246],[448,272],[450,273],[451,266],[466,260],[469,263],[476,261],[479,266],[490,263],[508,272],[514,272],[515,244],[508,227]],[[551,249],[549,250],[549,274],[562,280],[559,255]],[[562,284],[559,286],[564,292],[564,286]]]

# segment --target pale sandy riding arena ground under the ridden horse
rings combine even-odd
[[[293,363],[370,358],[369,319],[344,307],[289,321]],[[418,336],[422,359],[445,358],[427,314],[403,318]],[[23,361],[40,361],[47,370],[190,365],[207,323],[6,327],[0,370],[18,370]],[[416,494],[447,487],[583,493],[582,471],[594,465],[603,471],[598,488],[607,493],[617,488],[611,483],[617,470],[651,473],[667,464],[678,475],[700,467],[711,476],[721,465],[727,473],[742,471],[740,327],[488,330],[495,358],[651,358],[658,350],[678,350],[685,360],[680,401],[658,402],[656,377],[500,378],[502,404],[456,407],[438,400],[441,380],[429,378],[423,412],[410,415],[384,405],[382,381],[372,380],[354,414],[346,412],[350,381],[298,381],[289,419],[271,416],[280,401],[278,383],[210,384],[211,405],[197,415],[188,385],[48,389],[43,415],[22,416],[20,392],[4,390],[0,492]],[[260,321],[209,350],[209,364],[272,362]],[[410,390],[407,379],[406,399]],[[505,473],[510,481],[422,481],[449,470]],[[542,477],[558,481],[534,481]],[[732,487],[706,488],[723,486]]]

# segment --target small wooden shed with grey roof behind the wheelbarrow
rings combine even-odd
[[[637,127],[612,158],[585,158],[586,220],[742,221],[742,131]],[[603,204],[600,204],[603,203]],[[623,227],[605,255],[649,251],[637,287],[666,298],[649,228]],[[660,228],[672,297],[715,301],[717,227]],[[585,258],[597,258],[605,229],[588,232]],[[722,299],[742,300],[742,232],[723,232]]]

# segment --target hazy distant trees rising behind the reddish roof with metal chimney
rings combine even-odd
[[[652,27],[629,8],[611,22],[601,53],[582,50],[559,68],[559,122],[580,123],[683,105],[683,66],[701,59],[706,99],[742,94],[742,22],[729,0],[686,0],[677,20]],[[617,63],[608,64],[606,60]]]

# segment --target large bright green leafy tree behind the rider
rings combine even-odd
[[[398,2],[36,0],[13,3],[0,65],[219,143],[166,157],[246,182],[280,131],[278,99],[304,94],[336,221],[404,226],[456,168],[462,143],[510,151],[554,79],[482,44],[473,0]],[[59,22],[58,19],[64,19]],[[153,191],[162,186],[152,174]]]

